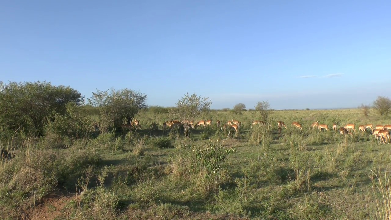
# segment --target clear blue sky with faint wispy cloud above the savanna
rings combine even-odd
[[[345,108],[391,92],[391,1],[3,1],[0,80],[212,108]]]

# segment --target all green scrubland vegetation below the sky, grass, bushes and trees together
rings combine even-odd
[[[97,90],[84,105],[72,88],[2,83],[3,219],[391,217],[391,144],[357,129],[391,124],[386,97],[374,108],[289,111],[270,110],[267,101],[254,111],[209,110],[208,99],[195,94],[176,108],[146,101],[133,90]],[[193,117],[212,126],[188,133],[161,127]],[[141,128],[121,129],[135,118]],[[215,124],[232,119],[241,122],[239,132]],[[287,125],[281,134],[277,121]],[[353,123],[357,132],[310,128],[315,121]]]

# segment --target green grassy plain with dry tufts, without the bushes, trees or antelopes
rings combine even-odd
[[[5,219],[390,219],[390,144],[359,124],[391,124],[359,109],[211,112],[213,127],[151,130],[169,115],[136,115],[142,129],[79,140],[12,140],[0,164]],[[236,119],[239,133],[217,129]],[[277,132],[277,121],[287,129]],[[291,125],[298,121],[303,131]],[[309,129],[319,121],[330,131]],[[332,131],[356,124],[351,137]],[[161,126],[160,126],[161,129]],[[15,147],[16,146],[16,147]]]

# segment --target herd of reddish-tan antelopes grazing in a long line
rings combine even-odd
[[[217,120],[215,122],[215,124],[217,125],[218,128],[220,128],[222,130],[226,130],[227,128],[231,128],[231,129],[235,130],[235,132],[238,132],[238,129],[240,128],[242,123],[238,120],[232,119],[230,121],[227,121],[224,124],[222,124],[219,120]],[[252,123],[251,127],[253,127],[253,125],[257,125],[257,124],[258,125],[267,125],[267,123],[264,121],[255,120]],[[201,121],[198,121],[197,123],[194,123],[194,121],[173,120],[173,121],[164,122],[162,124],[162,127],[163,127],[163,130],[165,130],[167,128],[179,128],[184,125],[189,126],[189,128],[197,128],[201,125],[203,127],[212,126],[212,120],[211,119],[206,120],[206,121],[201,120]],[[99,123],[94,123],[93,126],[94,126],[95,130],[97,130]],[[268,126],[271,126],[271,125],[269,124]],[[282,127],[287,129],[287,126],[285,125],[285,123],[283,121],[277,121],[277,126],[278,126],[278,133],[280,133],[280,134],[281,134]],[[292,122],[292,126],[298,128],[300,130],[303,130],[303,126],[297,121]],[[126,128],[126,129],[141,128],[141,125],[140,125],[140,122],[135,119],[134,121],[131,121],[130,124],[125,124],[125,123],[121,124],[121,128]],[[152,123],[151,128],[158,129],[158,124]],[[327,124],[319,124],[318,121],[312,123],[310,125],[309,129],[311,129],[311,128],[319,128],[319,130],[326,130],[326,132],[328,132],[328,125]],[[355,124],[346,124],[345,126],[343,126],[343,127],[341,126],[339,129],[337,129],[337,124],[333,123],[332,128],[335,132],[337,132],[337,130],[338,130],[338,132],[342,135],[349,134],[349,135],[353,136],[353,133],[350,132],[351,129],[354,133],[356,133]],[[391,124],[386,124],[386,125],[378,124],[376,126],[373,126],[373,124],[360,124],[358,128],[359,128],[359,132],[361,134],[366,133],[370,129],[372,135],[375,136],[376,139],[378,139],[380,137],[380,141],[382,143],[386,143],[386,142],[390,143],[389,133],[391,131]]]

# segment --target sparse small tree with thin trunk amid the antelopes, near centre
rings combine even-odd
[[[202,98],[201,96],[197,96],[195,93],[191,96],[187,93],[175,103],[176,108],[170,109],[170,114],[175,115],[182,121],[186,137],[190,137],[190,121],[194,121],[197,117],[209,112],[212,100],[208,99],[208,97]]]

